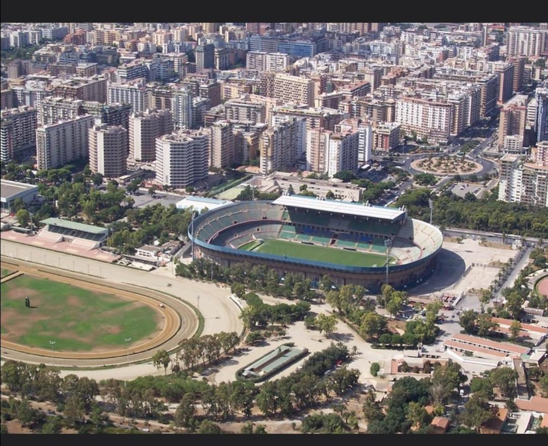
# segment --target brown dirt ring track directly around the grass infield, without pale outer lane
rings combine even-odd
[[[189,306],[177,299],[173,299],[170,296],[166,296],[158,291],[140,289],[129,285],[115,285],[106,281],[103,281],[95,277],[87,277],[78,273],[55,271],[52,268],[48,268],[41,265],[28,264],[25,261],[15,259],[2,259],[3,264],[8,264],[12,268],[16,268],[23,273],[29,273],[33,276],[42,278],[49,278],[54,281],[64,282],[72,285],[76,285],[81,288],[86,288],[93,291],[99,291],[101,293],[110,293],[125,298],[134,299],[149,305],[154,310],[162,314],[164,319],[164,326],[162,330],[150,340],[141,342],[140,344],[132,345],[129,348],[129,360],[136,361],[143,359],[142,354],[145,354],[144,358],[152,356],[155,351],[162,348],[163,350],[173,350],[182,339],[190,338],[198,329],[198,319],[196,313]],[[165,308],[159,307],[159,302],[164,304]],[[49,357],[49,358],[62,358],[62,359],[76,359],[84,362],[72,361],[72,365],[93,365],[89,364],[89,360],[94,359],[110,359],[128,356],[128,350],[121,348],[118,350],[106,351],[106,352],[54,352],[43,348],[33,348],[14,342],[2,341],[1,346],[5,350],[24,353],[30,356]],[[4,351],[3,351],[4,353]],[[6,354],[9,357],[9,354]],[[99,365],[99,364],[98,364]],[[104,361],[100,365],[104,365]]]

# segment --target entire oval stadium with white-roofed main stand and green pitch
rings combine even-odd
[[[248,262],[283,277],[302,273],[317,286],[328,274],[337,285],[371,292],[388,283],[418,285],[436,268],[442,233],[407,216],[405,208],[284,195],[238,202],[197,216],[189,228],[193,255],[220,265]],[[390,240],[390,242],[386,242]]]

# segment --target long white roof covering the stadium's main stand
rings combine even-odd
[[[350,203],[334,200],[319,200],[315,197],[305,197],[301,195],[282,195],[281,197],[275,199],[272,204],[390,221],[402,219],[406,215],[406,211],[399,208],[385,208],[380,206],[364,205],[362,203]]]

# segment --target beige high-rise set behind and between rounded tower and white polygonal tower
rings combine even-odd
[[[169,110],[151,110],[133,113],[129,118],[129,157],[136,161],[156,159],[156,138],[173,131]]]

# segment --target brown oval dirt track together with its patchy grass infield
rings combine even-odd
[[[198,329],[195,310],[158,291],[9,260],[2,278],[3,359],[96,367],[172,351]],[[25,297],[30,308],[25,308]]]

